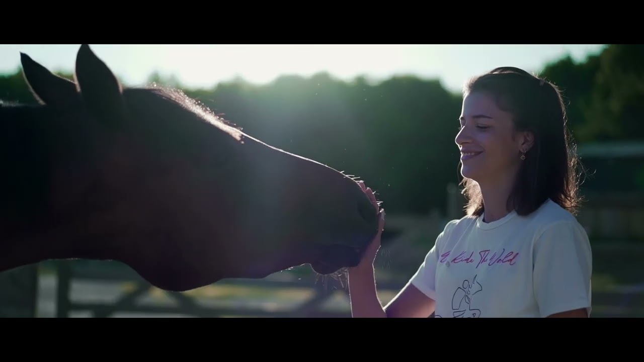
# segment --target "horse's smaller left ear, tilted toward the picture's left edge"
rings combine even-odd
[[[23,52],[20,62],[24,80],[40,104],[66,106],[78,99],[76,85],[69,79],[55,75]]]

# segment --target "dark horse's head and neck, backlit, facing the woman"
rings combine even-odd
[[[116,260],[185,291],[310,264],[357,265],[373,194],[249,137],[176,90],[125,88],[81,46],[74,82],[21,53],[38,100],[0,106],[0,271]]]

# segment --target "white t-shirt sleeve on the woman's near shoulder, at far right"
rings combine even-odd
[[[535,240],[533,285],[542,317],[585,308],[591,314],[592,251],[575,221],[550,225]]]

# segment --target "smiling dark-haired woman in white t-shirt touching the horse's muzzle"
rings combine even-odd
[[[592,254],[573,216],[576,157],[565,120],[556,86],[524,70],[502,67],[471,80],[455,139],[467,214],[446,225],[384,309],[376,236],[348,273],[353,316],[588,317]]]

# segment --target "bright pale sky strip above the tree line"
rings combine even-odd
[[[115,45],[90,44],[91,48],[128,84],[142,84],[153,71],[175,75],[189,87],[211,88],[221,81],[241,77],[264,84],[279,75],[308,77],[327,71],[346,81],[357,75],[386,79],[394,74],[439,78],[443,86],[460,91],[472,75],[497,66],[517,66],[539,71],[547,62],[565,55],[583,61],[600,52],[603,44],[419,44],[419,45]],[[19,52],[30,55],[50,70],[71,71],[79,44],[0,45],[0,72],[13,72]]]

